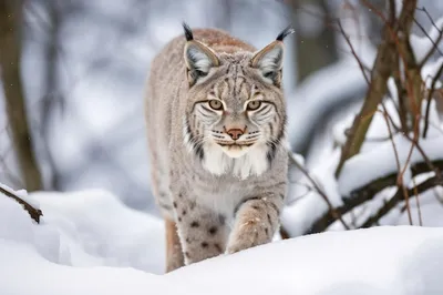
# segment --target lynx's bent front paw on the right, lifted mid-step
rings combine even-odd
[[[268,242],[270,242],[269,230],[265,224],[259,218],[249,220],[233,233],[226,253],[233,254]]]

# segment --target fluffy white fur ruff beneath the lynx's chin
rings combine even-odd
[[[262,174],[269,166],[268,149],[262,143],[257,143],[245,152],[238,151],[244,153],[238,157],[229,156],[216,143],[205,144],[204,150],[206,156],[203,166],[214,175],[231,173],[240,180],[246,180],[249,176]]]

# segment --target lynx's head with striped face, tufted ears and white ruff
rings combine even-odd
[[[261,174],[285,134],[285,29],[264,49],[217,52],[184,23],[188,82],[185,142],[214,174]],[[222,50],[219,50],[222,51]]]

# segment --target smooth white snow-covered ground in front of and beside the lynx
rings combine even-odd
[[[0,194],[0,294],[443,294],[443,228],[329,232],[163,269],[159,220],[103,191]]]

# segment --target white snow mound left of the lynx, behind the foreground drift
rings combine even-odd
[[[0,195],[0,211],[6,211],[0,216],[1,224],[12,228],[13,222],[16,227],[1,231],[0,238],[14,234],[17,242],[31,241],[40,254],[54,263],[131,266],[163,273],[164,230],[158,218],[128,208],[102,190],[33,193],[25,200],[39,203],[43,212],[41,224],[33,225],[18,204]],[[25,230],[21,231],[20,225]]]

